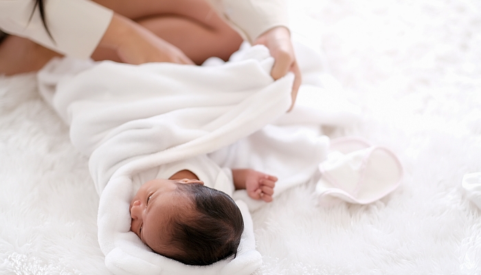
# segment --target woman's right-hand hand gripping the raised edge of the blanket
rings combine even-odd
[[[295,75],[294,85],[292,87],[292,104],[294,107],[295,98],[298,96],[299,87],[302,81],[298,63],[295,61],[294,49],[291,42],[291,34],[285,27],[275,27],[260,36],[254,41],[254,44],[265,45],[271,56],[274,58],[271,76],[274,80],[285,76],[287,72],[293,72]]]

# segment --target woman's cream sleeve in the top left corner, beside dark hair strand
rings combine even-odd
[[[34,0],[0,0],[0,29],[60,54],[89,58],[109,27],[113,12],[89,0],[45,0],[47,34]]]

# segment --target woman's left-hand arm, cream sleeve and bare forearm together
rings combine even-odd
[[[76,58],[89,58],[97,47],[106,47],[115,50],[126,63],[193,64],[177,47],[93,1],[41,3],[47,29],[36,1],[0,0],[1,30]]]

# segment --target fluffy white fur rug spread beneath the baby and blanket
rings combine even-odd
[[[293,1],[294,2],[294,1]],[[480,274],[481,2],[303,0],[324,67],[363,108],[354,129],[392,148],[401,188],[368,206],[317,204],[314,186],[254,212],[260,274]],[[0,274],[109,274],[87,159],[36,92],[0,78]]]

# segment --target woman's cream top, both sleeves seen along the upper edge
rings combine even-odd
[[[172,0],[174,1],[174,0]],[[76,58],[89,58],[109,27],[113,11],[88,0],[47,0],[45,17],[52,38],[43,26],[34,0],[0,0],[0,30],[26,37],[51,50]],[[287,27],[284,0],[212,0],[214,8],[252,42],[278,25]]]

